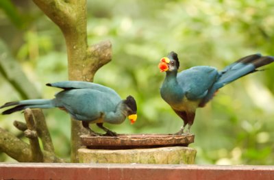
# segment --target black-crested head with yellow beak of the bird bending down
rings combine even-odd
[[[137,105],[134,97],[128,96],[124,101],[126,105],[127,116],[130,123],[134,124],[137,120]]]

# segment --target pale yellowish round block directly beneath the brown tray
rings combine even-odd
[[[79,149],[79,162],[115,164],[195,164],[195,149],[172,146],[152,149]]]

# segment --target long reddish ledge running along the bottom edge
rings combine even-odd
[[[274,166],[0,164],[0,179],[274,179]]]

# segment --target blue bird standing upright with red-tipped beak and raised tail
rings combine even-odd
[[[204,107],[219,88],[273,61],[273,56],[258,53],[242,57],[221,71],[211,66],[194,66],[177,73],[177,53],[171,51],[167,57],[162,57],[158,67],[161,72],[166,72],[166,77],[160,88],[161,97],[184,120],[184,125],[175,134],[184,133],[186,125],[187,133],[190,132],[197,107]]]

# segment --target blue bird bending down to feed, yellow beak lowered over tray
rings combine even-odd
[[[5,110],[2,114],[11,114],[26,108],[59,107],[75,120],[82,120],[83,126],[92,136],[116,136],[114,131],[103,127],[103,123],[121,124],[128,116],[133,124],[137,119],[137,105],[134,97],[128,96],[122,100],[119,94],[106,86],[84,81],[61,81],[47,83],[47,86],[63,90],[55,94],[55,99],[30,99],[5,103],[0,108],[14,105],[15,107]],[[89,123],[96,123],[106,133],[92,131]]]

